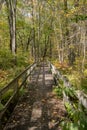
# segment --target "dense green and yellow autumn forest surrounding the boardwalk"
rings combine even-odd
[[[27,66],[42,61],[50,61],[67,77],[73,91],[87,94],[86,0],[0,0],[0,89]],[[87,107],[85,111],[87,115]],[[87,128],[84,122],[81,130]]]

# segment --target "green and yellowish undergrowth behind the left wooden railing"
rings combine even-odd
[[[5,87],[14,77],[21,73],[33,59],[28,58],[28,53],[18,53],[16,63],[9,50],[0,50],[0,89]]]

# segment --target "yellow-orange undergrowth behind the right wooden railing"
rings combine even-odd
[[[87,93],[87,63],[85,63],[83,73],[81,72],[81,65],[78,66],[79,60],[76,60],[72,66],[69,66],[67,62],[59,63],[57,60],[53,61],[53,64],[69,79],[73,87]]]

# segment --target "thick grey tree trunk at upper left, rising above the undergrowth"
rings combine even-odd
[[[9,20],[9,31],[10,31],[10,49],[12,54],[15,56],[17,45],[16,45],[16,3],[17,0],[6,0]]]

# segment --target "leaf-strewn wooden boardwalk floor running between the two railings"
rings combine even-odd
[[[48,65],[38,65],[4,130],[61,130],[59,124],[66,112],[52,91],[53,84]]]

